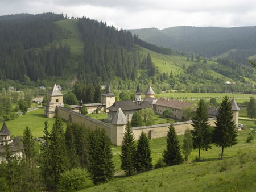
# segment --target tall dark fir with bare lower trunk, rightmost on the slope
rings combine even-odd
[[[232,105],[229,97],[225,96],[218,114],[213,130],[213,142],[216,146],[221,147],[221,159],[223,158],[224,148],[237,144],[236,125],[233,121]]]

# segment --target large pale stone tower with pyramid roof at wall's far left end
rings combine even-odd
[[[53,85],[52,90],[48,94],[48,100],[46,101],[46,108],[44,115],[48,118],[53,118],[56,115],[57,105],[63,104],[63,94],[60,92],[56,84]]]

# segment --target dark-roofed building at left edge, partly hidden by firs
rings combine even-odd
[[[24,145],[20,141],[19,137],[11,138],[11,132],[3,122],[3,126],[0,130],[0,162],[6,161],[6,145],[9,145],[9,151],[11,156],[17,156],[22,158]]]

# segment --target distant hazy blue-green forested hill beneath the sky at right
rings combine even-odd
[[[170,27],[163,30],[146,28],[129,30],[149,43],[171,47],[183,52],[193,52],[203,57],[226,53],[229,59],[243,62],[256,54],[256,27]]]

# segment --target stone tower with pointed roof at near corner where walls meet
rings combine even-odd
[[[121,108],[117,110],[114,117],[111,120],[112,128],[111,128],[111,142],[114,145],[121,146],[124,129],[127,124],[128,120]]]

